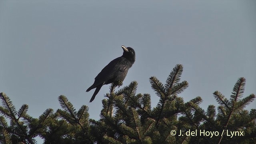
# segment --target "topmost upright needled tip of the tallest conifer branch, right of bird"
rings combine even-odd
[[[166,80],[166,89],[172,89],[172,86],[174,84],[178,84],[180,82],[180,77],[183,72],[183,66],[182,64],[176,64],[176,66],[173,68],[172,72],[170,72],[167,80]]]

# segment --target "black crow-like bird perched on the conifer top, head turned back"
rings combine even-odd
[[[107,66],[105,66],[102,71],[96,76],[94,83],[90,88],[86,90],[89,92],[93,88],[96,88],[90,102],[92,102],[100,91],[100,88],[104,84],[114,83],[114,86],[122,86],[122,82],[126,77],[126,74],[132,64],[135,62],[135,52],[132,48],[122,46],[124,53],[119,58],[112,60]]]

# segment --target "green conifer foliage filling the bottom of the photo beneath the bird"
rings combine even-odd
[[[137,82],[115,90],[110,86],[102,100],[100,120],[89,119],[88,106],[76,111],[68,99],[58,97],[62,109],[48,108],[39,118],[32,118],[24,104],[17,111],[10,98],[0,93],[0,143],[36,144],[35,137],[44,144],[194,144],[241,143],[256,141],[256,109],[245,110],[254,94],[243,97],[245,78],[239,78],[229,100],[220,92],[213,93],[219,106],[200,108],[200,96],[184,102],[178,96],[188,87],[180,81],[183,66],[177,64],[166,83],[152,76],[150,84],[159,97],[156,107],[151,106],[150,94],[136,94]],[[217,110],[217,111],[216,111]],[[10,122],[8,122],[8,119]],[[174,134],[173,130],[177,133]],[[178,136],[179,131],[184,133]],[[198,130],[197,136],[185,132]],[[200,136],[199,130],[219,132],[218,136]],[[222,134],[223,132],[223,134]],[[228,136],[229,132],[240,136]]]

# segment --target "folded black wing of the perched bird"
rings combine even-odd
[[[98,76],[96,76],[94,85],[97,86],[98,84],[102,84],[103,82],[118,76],[120,72],[127,71],[129,68],[130,62],[126,58],[116,58],[105,66]]]

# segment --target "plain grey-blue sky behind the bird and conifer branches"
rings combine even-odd
[[[122,45],[136,52],[123,86],[136,80],[137,93],[151,94],[152,106],[159,97],[150,76],[165,83],[176,64],[189,83],[180,96],[185,102],[201,96],[204,110],[218,106],[215,90],[229,99],[239,77],[246,78],[244,96],[256,94],[255,0],[1,0],[0,92],[17,109],[28,104],[33,117],[60,108],[63,94],[98,120],[110,85],[92,103],[94,90],[85,90],[122,55]]]

